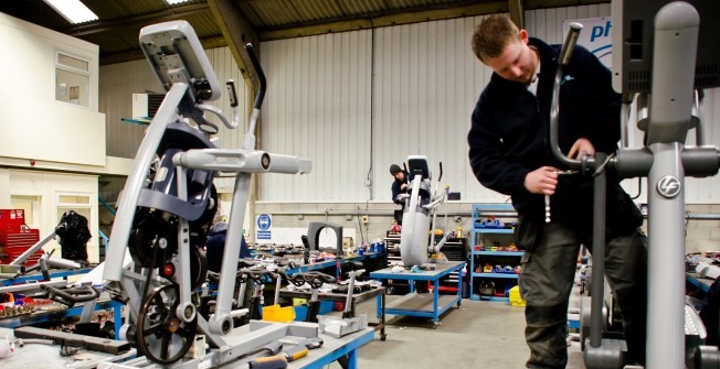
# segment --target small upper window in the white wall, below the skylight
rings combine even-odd
[[[55,100],[89,105],[89,61],[55,51]]]

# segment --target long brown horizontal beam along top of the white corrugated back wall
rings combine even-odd
[[[473,3],[464,7],[427,9],[427,7],[398,9],[396,11],[352,15],[351,19],[327,20],[317,24],[295,25],[287,29],[261,30],[260,40],[293,39],[325,33],[337,33],[380,26],[438,21],[453,18],[493,14],[508,11],[507,1]]]

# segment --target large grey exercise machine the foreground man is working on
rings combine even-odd
[[[555,158],[583,174],[594,175],[593,302],[591,332],[585,345],[587,368],[618,368],[622,345],[602,339],[602,289],[605,246],[605,171],[621,177],[647,177],[648,194],[648,312],[647,368],[720,367],[718,350],[686,354],[687,323],[697,322],[685,307],[685,196],[686,176],[717,174],[717,146],[686,145],[697,102],[695,89],[720,86],[720,3],[690,0],[613,0],[613,85],[625,102],[639,94],[638,126],[645,146],[623,146],[613,155],[571,160],[558,145],[560,82],[581,26],[571,25],[559,57],[551,108],[551,148]],[[702,17],[702,21],[701,21]],[[626,111],[626,110],[625,110]],[[626,131],[625,112],[622,117]],[[624,137],[624,144],[626,142]],[[688,322],[691,321],[691,322]],[[695,358],[693,358],[695,356]],[[698,367],[698,366],[696,366]]]

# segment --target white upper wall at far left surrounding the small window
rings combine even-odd
[[[0,44],[0,69],[6,70],[8,86],[0,89],[0,158],[22,160],[23,164],[43,161],[61,166],[104,166],[105,116],[97,111],[97,45],[3,13]],[[86,106],[56,97],[56,89],[63,89],[57,85],[57,72],[62,70],[55,66],[57,52],[87,62],[88,75],[81,93],[87,96]]]

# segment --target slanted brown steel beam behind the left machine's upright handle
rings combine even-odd
[[[257,32],[234,1],[208,0],[208,4],[245,83],[252,84],[252,80],[256,78],[251,77],[254,77],[256,73],[245,51],[245,44],[252,43],[255,46],[255,53],[260,53]]]

